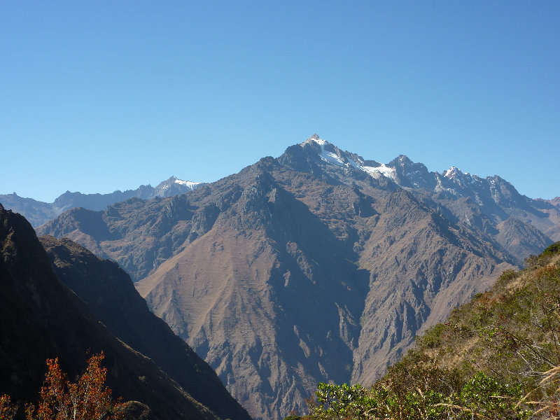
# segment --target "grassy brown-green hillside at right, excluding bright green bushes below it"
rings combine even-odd
[[[486,380],[473,390],[471,408],[493,407],[484,414],[513,418],[498,416],[496,403],[501,401],[510,414],[517,412],[515,418],[556,418],[560,402],[560,242],[527,262],[519,272],[504,272],[491,290],[455,309],[445,323],[430,328],[381,383],[398,384],[398,393],[421,400],[416,388],[422,384],[429,383],[433,391],[447,390],[443,394],[458,393],[461,386],[475,384],[470,378],[486,375],[493,381]],[[465,411],[461,414],[470,418],[467,414],[472,416],[472,412]]]

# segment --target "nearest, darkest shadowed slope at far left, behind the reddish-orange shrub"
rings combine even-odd
[[[1,305],[0,393],[9,393],[13,400],[35,400],[46,358],[59,357],[62,368],[73,377],[83,369],[87,352],[104,351],[109,386],[125,400],[144,402],[149,418],[219,418],[153,360],[104,327],[87,304],[57,279],[31,225],[2,207],[0,248],[0,291],[6,302]]]

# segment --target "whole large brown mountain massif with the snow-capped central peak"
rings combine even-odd
[[[381,165],[314,137],[186,195],[74,209],[38,232],[118,261],[253,417],[279,418],[318,381],[373,381],[559,220],[499,177]]]

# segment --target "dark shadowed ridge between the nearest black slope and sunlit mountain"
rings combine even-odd
[[[149,311],[130,276],[69,239],[40,237],[58,278],[87,303],[113,335],[151,358],[185,391],[221,418],[248,420],[214,370]]]

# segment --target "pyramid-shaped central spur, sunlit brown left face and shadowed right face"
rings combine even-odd
[[[137,287],[253,416],[277,418],[318,378],[349,375],[367,277],[347,256],[262,172],[209,232]]]

